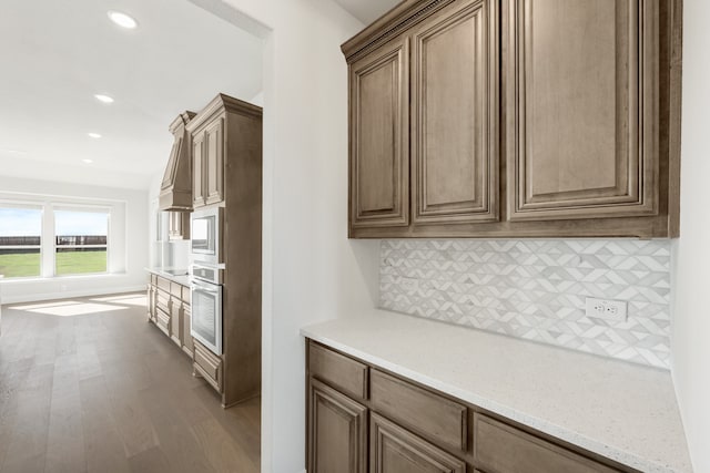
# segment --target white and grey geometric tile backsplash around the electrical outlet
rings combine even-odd
[[[625,300],[625,322],[585,316]],[[670,240],[383,240],[382,308],[670,369]]]

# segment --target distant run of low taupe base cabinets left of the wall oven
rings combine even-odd
[[[190,288],[153,273],[148,277],[148,319],[193,358]]]

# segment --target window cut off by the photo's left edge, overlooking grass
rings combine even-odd
[[[41,235],[41,207],[0,206],[0,275],[40,276]]]

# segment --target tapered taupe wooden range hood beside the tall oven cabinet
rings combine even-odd
[[[190,163],[191,138],[185,125],[195,116],[193,112],[183,112],[170,124],[175,136],[165,175],[160,186],[159,207],[161,210],[192,210],[192,165]]]

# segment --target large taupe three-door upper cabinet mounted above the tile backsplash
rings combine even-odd
[[[342,47],[349,236],[677,236],[677,9],[390,10]]]

